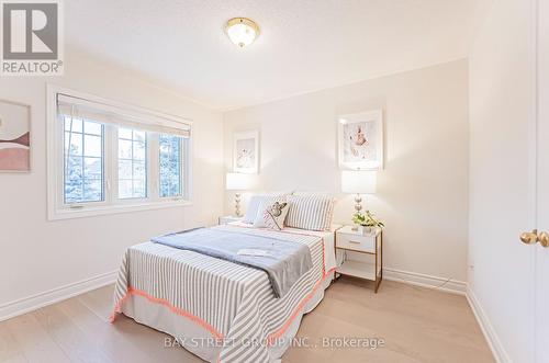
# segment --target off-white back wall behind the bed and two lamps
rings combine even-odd
[[[338,193],[336,115],[382,107],[385,169],[366,203],[386,225],[385,266],[466,281],[467,79],[459,60],[227,112],[226,170],[233,132],[259,129],[259,190]],[[349,223],[352,196],[340,196],[335,219]]]

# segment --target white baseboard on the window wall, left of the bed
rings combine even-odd
[[[21,298],[0,305],[0,321],[8,320],[19,315],[40,309],[64,299],[103,287],[116,281],[119,271],[112,271],[91,279],[75,282],[65,286],[53,288],[36,295]]]

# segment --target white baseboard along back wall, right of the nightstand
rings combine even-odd
[[[401,271],[395,269],[383,269],[383,279],[406,284],[436,288],[447,293],[464,295],[467,291],[467,283],[463,281],[448,280],[438,276],[430,276],[423,273]]]

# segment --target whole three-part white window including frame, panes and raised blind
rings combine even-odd
[[[188,121],[49,89],[51,219],[189,204]]]

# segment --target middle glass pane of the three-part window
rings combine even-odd
[[[147,133],[119,128],[119,198],[147,197]]]

